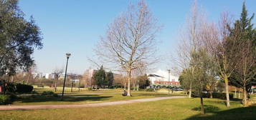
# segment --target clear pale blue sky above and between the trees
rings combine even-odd
[[[87,57],[100,36],[118,14],[125,11],[130,2],[137,0],[21,0],[19,6],[24,14],[34,16],[44,37],[43,49],[34,51],[37,71],[52,72],[56,67],[65,67],[65,53],[72,54],[69,70],[82,74],[91,64]],[[191,0],[147,0],[153,15],[164,27],[158,34],[159,54],[175,51],[179,41],[179,29],[189,12]],[[235,19],[240,16],[243,0],[199,0],[212,21],[219,19],[222,11],[229,11]],[[247,0],[249,14],[256,12],[256,1]],[[256,18],[253,20],[256,23]],[[159,63],[158,69],[167,65]]]

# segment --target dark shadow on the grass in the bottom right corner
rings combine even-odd
[[[225,111],[213,111],[213,115],[197,114],[186,120],[255,120],[256,106],[240,107]]]

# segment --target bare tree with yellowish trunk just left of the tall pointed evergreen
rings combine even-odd
[[[237,56],[237,44],[234,41],[229,41],[229,26],[231,18],[227,12],[224,12],[219,21],[219,39],[212,44],[215,47],[216,61],[219,66],[219,76],[224,80],[225,91],[227,98],[227,107],[229,104],[229,76],[237,66],[235,58]],[[215,46],[214,46],[215,45]]]

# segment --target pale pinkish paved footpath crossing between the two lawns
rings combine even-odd
[[[82,107],[97,107],[97,106],[112,106],[118,104],[132,104],[145,101],[158,101],[163,99],[181,99],[186,98],[186,96],[166,96],[166,97],[156,97],[150,99],[132,99],[126,101],[109,101],[102,103],[93,104],[59,104],[59,105],[4,105],[0,106],[0,111],[2,110],[28,110],[28,109],[66,109],[66,108],[82,108]]]

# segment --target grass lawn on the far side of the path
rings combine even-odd
[[[39,93],[42,91],[53,91],[50,88],[39,89],[35,88]],[[131,91],[132,97],[122,96],[122,89],[108,89],[108,90],[98,90],[98,91],[85,91],[80,92],[74,91],[70,92],[70,88],[66,89],[65,99],[61,101],[61,95],[59,96],[21,96],[21,99],[14,101],[15,105],[28,105],[28,104],[87,104],[95,102],[105,102],[105,101],[123,101],[129,99],[145,99],[160,96],[169,96],[167,93],[157,93],[150,91]],[[57,94],[61,94],[61,88],[58,89]],[[171,96],[177,96],[183,94],[171,94]]]

